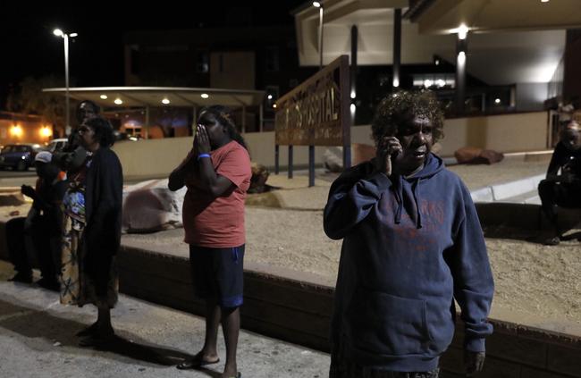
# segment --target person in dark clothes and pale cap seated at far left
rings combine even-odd
[[[35,157],[38,180],[36,189],[22,185],[23,195],[33,199],[29,214],[6,223],[6,242],[16,275],[10,281],[32,282],[31,258],[38,260],[40,286],[58,290],[60,267],[61,201],[66,189],[64,174],[51,164],[50,152]]]

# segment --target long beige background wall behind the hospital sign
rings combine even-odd
[[[547,147],[546,112],[490,115],[454,118],[444,123],[440,155],[454,155],[459,147],[471,146],[494,149],[499,152],[543,150]],[[274,131],[244,135],[252,161],[274,167]],[[373,145],[371,127],[351,128],[351,142]],[[192,138],[148,139],[138,142],[124,141],[115,144],[125,176],[165,176],[172,172],[188,154]],[[326,147],[315,148],[317,165],[324,162]],[[280,147],[280,165],[288,164],[288,147]],[[295,146],[293,163],[297,168],[308,164],[308,147]]]

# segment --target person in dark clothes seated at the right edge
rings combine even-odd
[[[539,183],[539,197],[543,214],[554,234],[544,244],[560,243],[557,206],[581,208],[581,127],[576,121],[568,122],[560,133],[560,141],[552,153],[547,178]]]

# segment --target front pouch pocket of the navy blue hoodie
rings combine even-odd
[[[358,295],[347,316],[353,347],[384,356],[423,354],[431,341],[425,300],[379,291]]]

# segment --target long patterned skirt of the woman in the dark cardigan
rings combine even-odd
[[[63,214],[63,248],[61,263],[61,303],[82,307],[93,304],[113,308],[119,292],[119,275],[115,256],[109,264],[106,289],[97,290],[96,282],[85,272],[85,248],[82,235],[85,223]],[[105,294],[97,294],[97,292]]]

